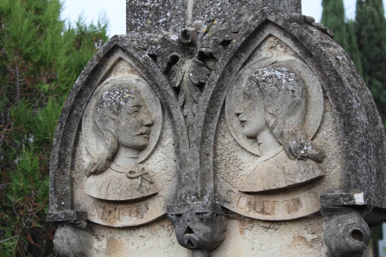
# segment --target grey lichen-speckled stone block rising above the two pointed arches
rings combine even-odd
[[[197,20],[222,22],[234,19],[237,22],[236,17],[253,15],[264,7],[271,7],[286,16],[301,13],[300,0],[132,0],[126,5],[126,31],[178,31]]]

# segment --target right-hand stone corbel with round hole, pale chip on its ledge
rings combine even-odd
[[[366,205],[363,192],[321,195],[320,204],[325,217],[324,240],[332,256],[364,256],[369,227],[386,220],[384,210]]]

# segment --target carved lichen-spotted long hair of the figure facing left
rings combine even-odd
[[[266,123],[289,158],[323,160],[325,154],[305,133],[308,95],[300,76],[285,66],[263,67],[251,75],[245,94],[263,101]]]

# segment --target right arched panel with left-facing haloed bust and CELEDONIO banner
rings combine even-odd
[[[215,170],[223,206],[247,217],[288,220],[320,208],[328,163],[339,163],[326,137],[335,120],[318,76],[299,49],[279,39],[284,37],[274,27],[266,31],[271,34],[263,37],[227,93]]]

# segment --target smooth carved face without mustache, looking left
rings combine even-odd
[[[235,114],[239,116],[244,128],[243,133],[248,138],[256,139],[257,135],[267,128],[262,97],[256,99],[256,94],[250,94],[249,89],[244,91],[243,102]]]

